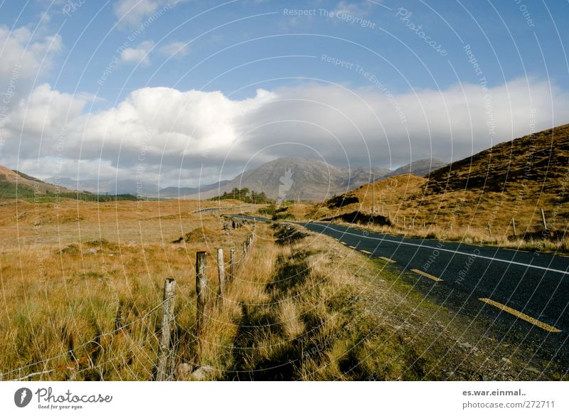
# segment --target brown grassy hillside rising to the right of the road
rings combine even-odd
[[[452,162],[428,178],[390,176],[327,201],[319,216],[371,210],[449,229],[493,236],[543,233],[541,208],[548,228],[565,230],[569,220],[569,124],[529,134],[465,159]],[[342,201],[343,200],[343,201]],[[409,222],[407,223],[409,224]],[[533,233],[533,234],[532,234]],[[506,234],[508,235],[508,234]]]

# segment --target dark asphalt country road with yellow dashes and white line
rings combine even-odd
[[[297,224],[398,267],[400,277],[425,296],[457,314],[484,320],[488,336],[530,343],[539,356],[558,356],[569,363],[569,257],[405,238],[331,223]]]

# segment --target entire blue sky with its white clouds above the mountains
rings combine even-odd
[[[0,164],[197,186],[569,122],[568,1],[0,0]]]

